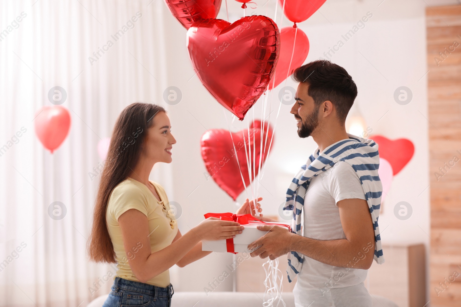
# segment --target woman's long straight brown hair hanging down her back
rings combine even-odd
[[[93,214],[93,227],[88,240],[88,254],[93,261],[116,262],[106,225],[107,203],[112,190],[135,168],[147,129],[154,125],[154,116],[160,111],[166,112],[157,104],[134,103],[118,116],[104,162]]]

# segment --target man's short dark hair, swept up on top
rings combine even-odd
[[[296,82],[309,84],[307,94],[313,98],[316,106],[330,100],[336,108],[338,119],[342,122],[346,120],[357,97],[357,86],[343,67],[330,61],[317,60],[298,67],[291,76]]]

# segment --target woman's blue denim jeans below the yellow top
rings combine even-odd
[[[170,307],[173,286],[166,288],[116,277],[102,307]]]

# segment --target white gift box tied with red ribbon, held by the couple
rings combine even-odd
[[[243,253],[243,252],[252,252],[253,250],[248,250],[248,245],[259,239],[260,237],[264,236],[267,231],[262,231],[257,229],[256,227],[259,225],[268,225],[268,224],[275,224],[276,226],[290,226],[290,223],[283,223],[283,222],[266,222],[266,224],[248,221],[248,224],[242,225],[245,227],[242,230],[242,233],[236,234],[233,238],[234,241],[234,252],[236,253]],[[284,226],[282,226],[284,227]],[[288,229],[288,227],[286,227]],[[202,250],[206,251],[213,251],[219,253],[227,253],[227,242],[226,240],[217,240],[217,241],[202,241]]]

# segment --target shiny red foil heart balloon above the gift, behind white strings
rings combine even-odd
[[[272,138],[272,127],[268,125],[269,123],[265,122],[262,133],[261,121],[254,121],[249,130],[243,129],[240,132],[232,133],[232,138],[231,133],[224,129],[209,130],[201,137],[201,155],[208,174],[234,201],[245,189],[242,176],[245,185],[248,186],[259,173],[260,159],[261,166],[266,161]],[[263,136],[262,141],[261,134]],[[245,146],[247,153],[245,153]],[[251,181],[247,164],[248,151],[251,151]],[[264,155],[262,151],[264,151]],[[208,179],[209,177],[207,177]]]

